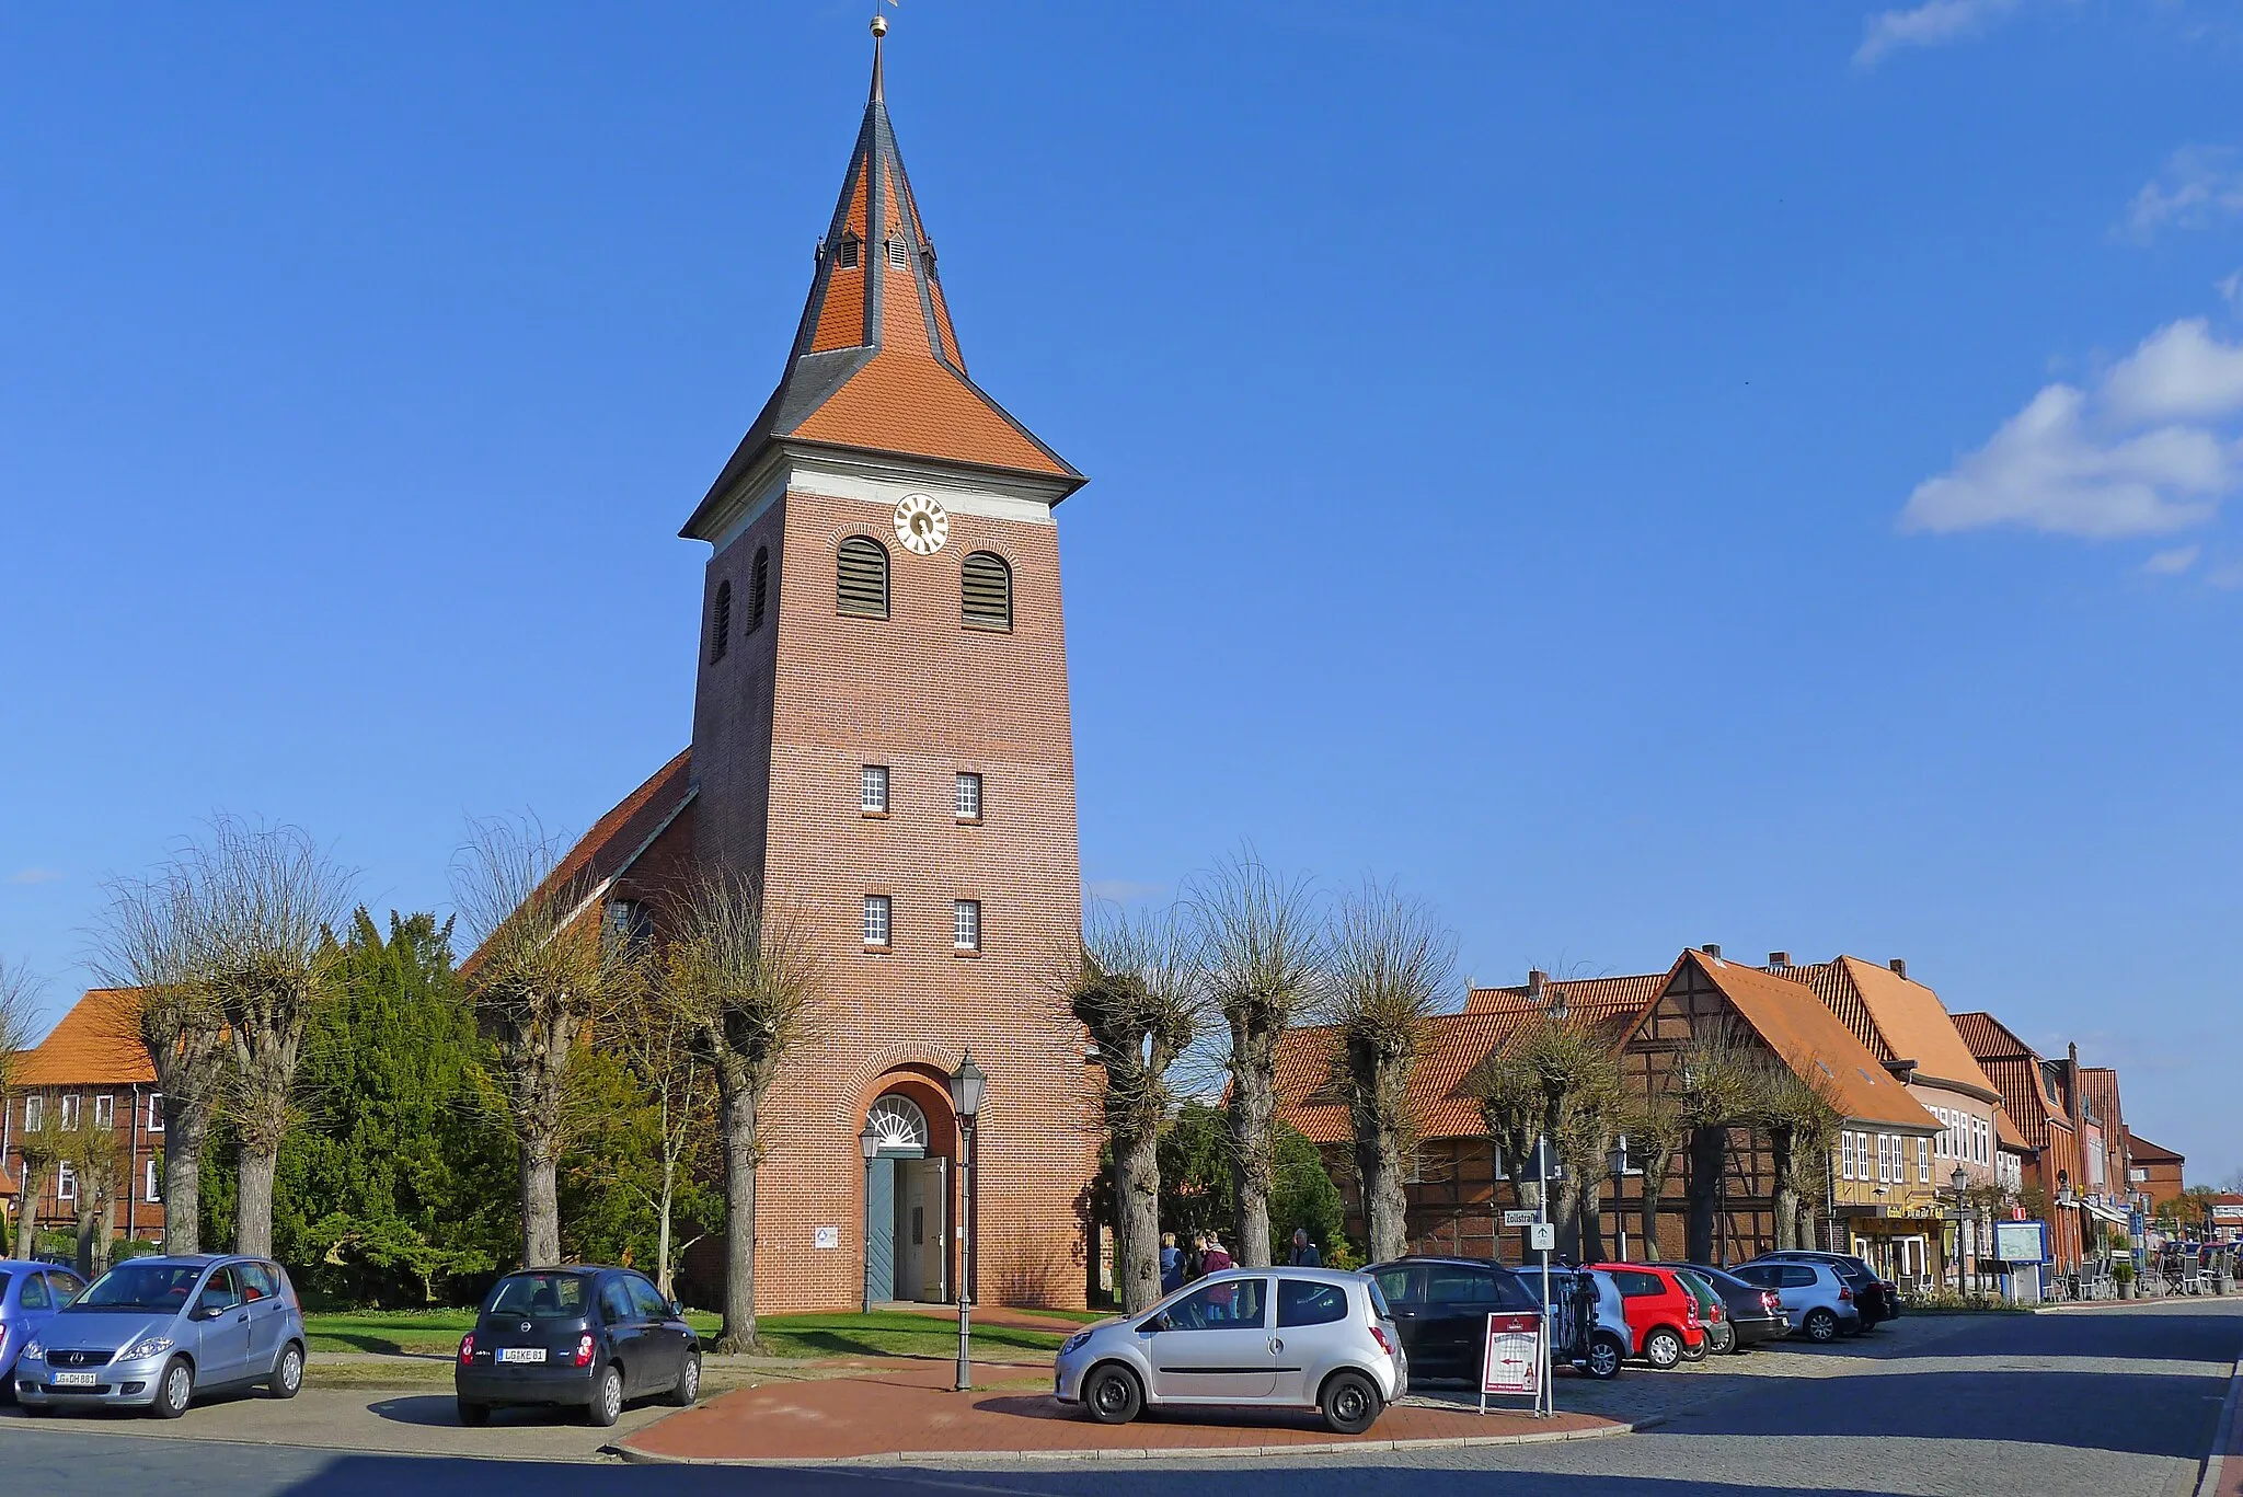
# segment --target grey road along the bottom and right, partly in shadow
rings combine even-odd
[[[1898,1333],[1893,1333],[1898,1331]],[[184,1497],[2173,1497],[2187,1493],[2243,1356],[2243,1299],[2079,1315],[1904,1322],[1754,1376],[1676,1380],[1646,1434],[1570,1445],[1012,1470],[707,1470],[518,1459],[334,1454],[135,1434],[132,1425],[0,1423],[13,1490]],[[1886,1338],[1880,1342],[1880,1338]],[[1759,1353],[1756,1353],[1759,1356]],[[1752,1362],[1752,1358],[1745,1358]],[[1633,1374],[1651,1378],[1655,1374]],[[1561,1385],[1561,1396],[1570,1383]],[[1702,1394],[1691,1400],[1691,1387]],[[193,1418],[193,1416],[191,1416]]]

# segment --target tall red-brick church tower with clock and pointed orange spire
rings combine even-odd
[[[1052,985],[1081,925],[1052,512],[1083,476],[967,375],[877,31],[785,373],[682,530],[711,548],[693,853],[803,913],[832,994],[765,1111],[756,1297],[956,1295],[944,1075],[971,1048],[978,1295],[1081,1304],[1092,1077]]]

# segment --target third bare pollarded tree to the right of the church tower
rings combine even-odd
[[[1418,1147],[1409,1077],[1433,1014],[1449,999],[1456,934],[1391,884],[1364,884],[1339,900],[1326,952],[1323,1017],[1337,1030],[1332,1080],[1348,1098],[1370,1261],[1386,1261],[1409,1248],[1402,1181]]]

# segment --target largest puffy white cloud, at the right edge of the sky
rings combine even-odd
[[[2050,384],[1938,478],[1909,494],[1902,530],[2019,525],[2153,536],[2203,525],[2243,487],[2243,346],[2203,319],[2158,328],[2084,391]]]

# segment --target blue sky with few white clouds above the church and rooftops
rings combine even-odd
[[[2243,4],[906,0],[1083,878],[1474,981],[1904,956],[2243,1167]],[[861,0],[0,7],[0,956],[215,812],[446,907],[684,745]]]

